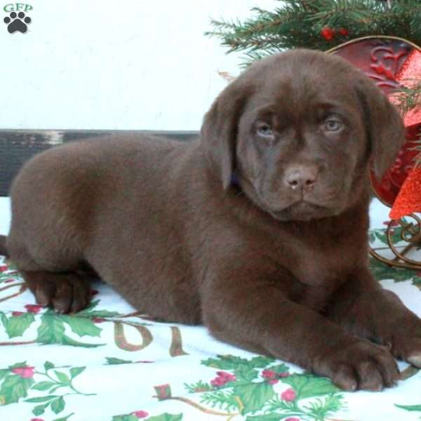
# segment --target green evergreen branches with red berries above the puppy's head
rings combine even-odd
[[[244,65],[289,48],[326,51],[370,35],[399,36],[421,45],[420,0],[283,0],[274,11],[253,8],[253,18],[212,20],[228,53],[244,51]]]

